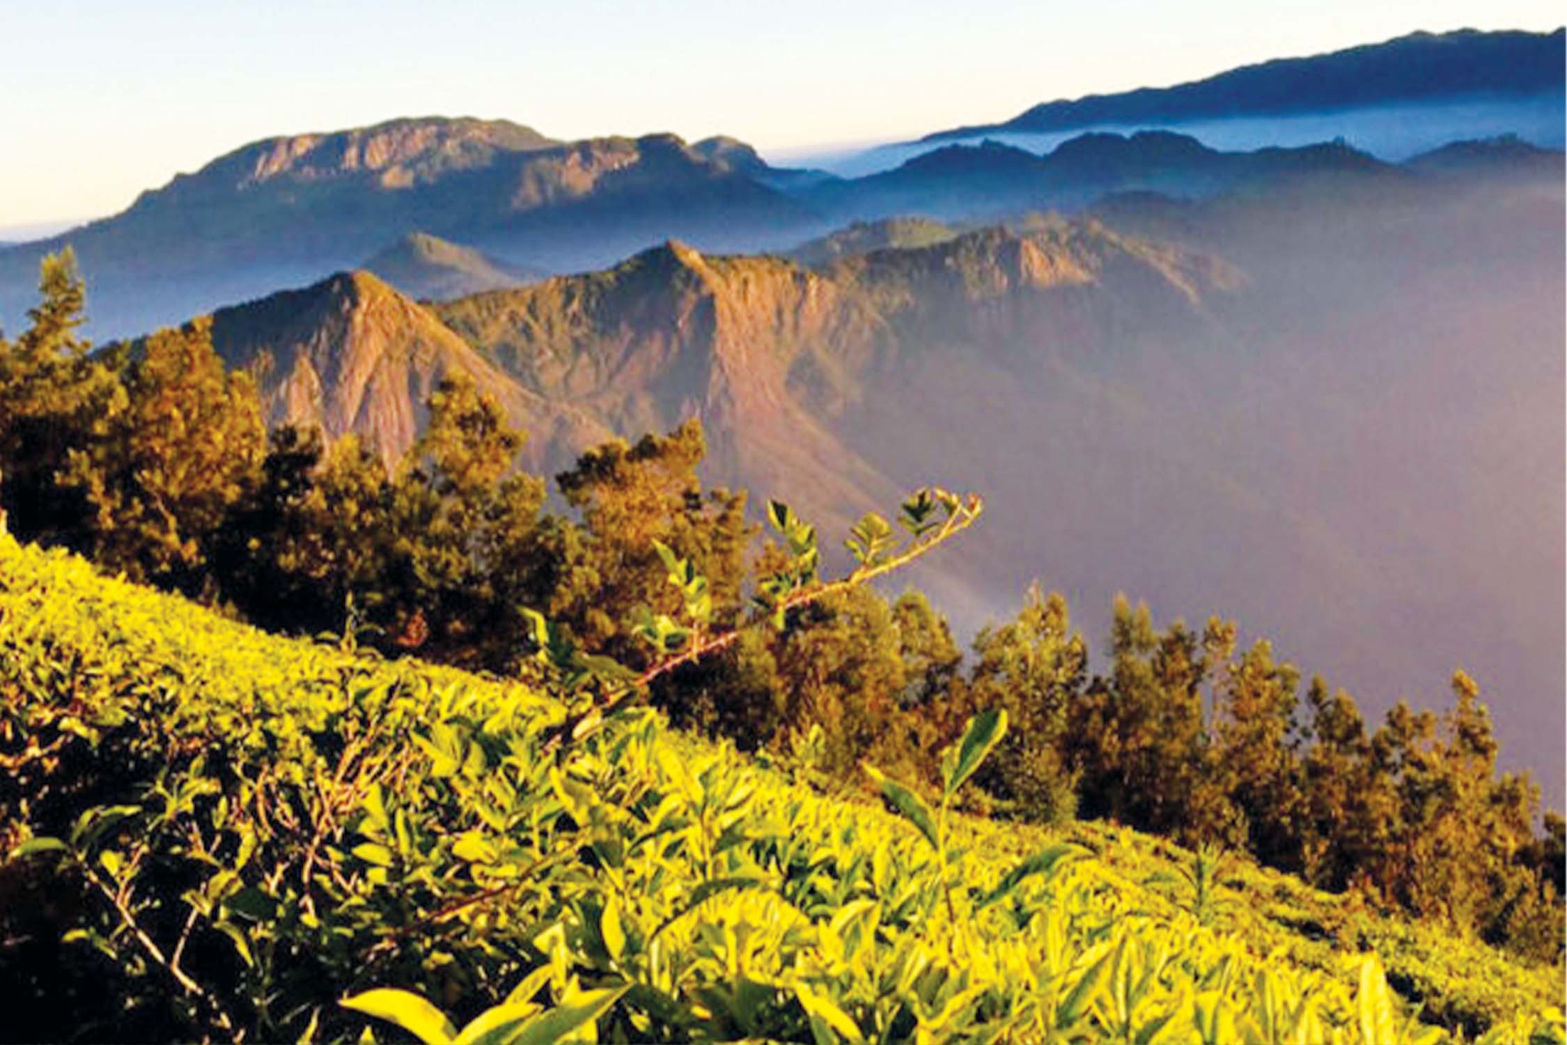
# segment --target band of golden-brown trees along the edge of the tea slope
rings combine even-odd
[[[642,678],[672,724],[769,757],[812,747],[835,786],[863,786],[871,763],[940,794],[939,752],[1004,710],[972,810],[1243,851],[1529,962],[1562,957],[1564,821],[1547,812],[1542,829],[1537,786],[1498,774],[1462,671],[1445,711],[1399,703],[1368,724],[1218,617],[1161,627],[1119,602],[1094,660],[1044,591],[967,652],[914,591],[769,602],[790,570],[799,583],[809,526],[774,506],[762,539],[746,492],[704,489],[694,421],[589,450],[552,487],[517,465],[527,434],[448,379],[389,468],[354,437],[268,432],[205,321],[94,351],[83,302],[69,254],[52,257],[28,327],[0,340],[0,508],[22,541],[389,656],[527,680],[552,671],[541,644],[570,650],[580,685]],[[870,515],[849,551],[874,562],[890,536]],[[740,628],[757,606],[782,627]],[[669,660],[708,633],[733,638]]]

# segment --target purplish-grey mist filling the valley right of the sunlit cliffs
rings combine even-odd
[[[986,492],[961,562],[921,578],[964,628],[1037,578],[1102,652],[1119,591],[1164,622],[1236,619],[1376,718],[1445,707],[1464,667],[1503,763],[1559,807],[1561,183],[1330,199],[1111,201],[1111,226],[1243,284],[1108,356],[1036,342],[1023,370],[915,379],[893,409],[928,410],[929,440],[860,450]]]

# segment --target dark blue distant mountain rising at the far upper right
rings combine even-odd
[[[1562,44],[1562,30],[1410,33],[1327,55],[1243,66],[1172,88],[1045,102],[1001,124],[943,130],[921,141],[1287,116],[1434,99],[1561,96]]]

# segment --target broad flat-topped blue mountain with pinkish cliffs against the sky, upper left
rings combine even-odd
[[[321,279],[415,230],[552,271],[668,237],[752,248],[821,230],[809,208],[741,172],[740,152],[674,135],[559,143],[506,121],[443,118],[271,138],[121,215],[0,251],[0,316],[20,318],[39,259],[66,246],[103,335]]]

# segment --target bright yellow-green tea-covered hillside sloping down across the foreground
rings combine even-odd
[[[1442,1037],[1415,1000],[1564,1039],[1559,970],[1238,860],[895,815],[809,752],[273,638],[6,536],[0,763],[14,1039],[407,1037],[338,1004],[375,989],[437,1042],[487,1009],[458,1040]]]

